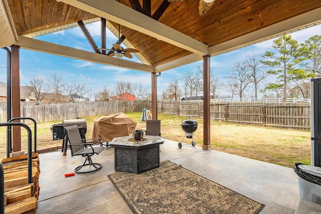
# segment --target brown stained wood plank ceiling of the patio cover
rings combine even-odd
[[[170,4],[163,3],[163,0],[146,0],[144,3],[140,0],[139,4],[137,0],[120,0],[120,3],[149,17],[154,16],[158,22],[209,47],[321,8],[320,0],[216,0],[207,14],[199,16],[199,0]],[[8,0],[8,4],[18,35],[97,18],[96,15],[56,0]],[[155,12],[162,4],[166,10],[159,16]],[[113,25],[118,28],[118,24]],[[152,66],[192,54],[124,26],[120,26],[120,33]],[[111,48],[111,44],[107,46]]]

